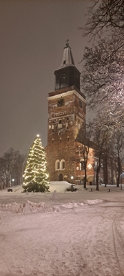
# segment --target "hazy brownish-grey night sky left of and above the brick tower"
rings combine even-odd
[[[47,146],[48,93],[66,39],[81,71],[89,0],[0,0],[0,156],[26,154],[37,134]]]

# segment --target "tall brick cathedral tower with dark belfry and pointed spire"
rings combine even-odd
[[[74,65],[68,40],[63,50],[61,64],[54,72],[54,92],[48,96],[48,146],[46,157],[50,181],[74,181],[76,137],[85,128],[85,96],[80,91],[81,73]]]

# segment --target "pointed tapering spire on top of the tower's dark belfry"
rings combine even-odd
[[[74,66],[74,59],[73,59],[72,51],[71,51],[68,41],[69,40],[67,39],[66,46],[63,50],[63,57],[61,59],[61,65],[59,66],[59,68],[63,68],[66,66]]]

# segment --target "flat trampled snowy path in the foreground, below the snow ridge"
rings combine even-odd
[[[1,276],[123,276],[124,202],[1,211]]]

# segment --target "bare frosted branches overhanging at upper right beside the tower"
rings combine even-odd
[[[106,126],[124,122],[123,0],[91,0],[83,35],[90,48],[83,55],[82,89],[92,110],[106,110]]]

